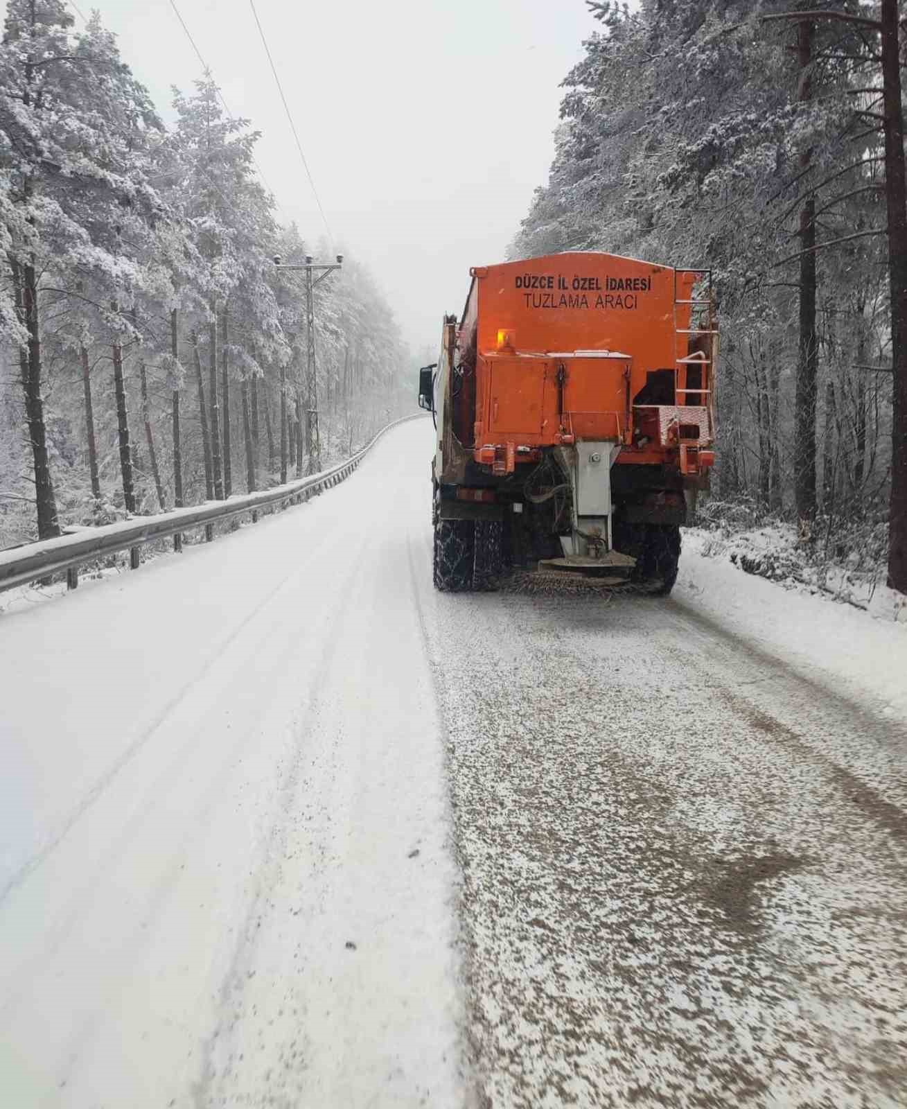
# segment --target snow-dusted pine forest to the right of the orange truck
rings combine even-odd
[[[550,179],[511,257],[710,266],[721,358],[704,512],[787,521],[808,559],[883,580],[887,564],[907,592],[897,3],[589,7],[601,29],[563,82]]]

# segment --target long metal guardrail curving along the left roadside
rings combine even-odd
[[[259,492],[241,494],[228,500],[210,500],[190,508],[175,508],[155,516],[133,517],[131,520],[121,520],[100,528],[85,528],[74,535],[0,551],[0,591],[64,571],[68,587],[75,589],[79,584],[79,567],[84,562],[128,550],[130,567],[136,570],[141,564],[141,549],[147,543],[173,536],[174,548],[180,550],[182,533],[200,527],[205,528],[205,538],[211,541],[214,538],[215,523],[235,519],[246,512],[252,513],[252,521],[255,523],[258,512],[263,509],[274,509],[281,505],[298,505],[315,494],[338,485],[349,477],[386,431],[408,420],[421,418],[424,418],[421,413],[417,413],[394,420],[383,427],[361,450],[346,461],[322,470],[320,474],[287,481],[286,485],[262,489]]]

